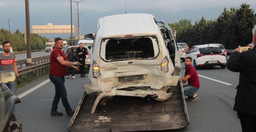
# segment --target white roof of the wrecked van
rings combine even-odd
[[[105,16],[99,19],[99,32],[102,38],[155,35],[159,27],[155,23],[154,16],[150,14],[120,14]]]

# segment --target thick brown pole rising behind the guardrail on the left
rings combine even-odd
[[[31,59],[31,44],[30,44],[30,20],[29,20],[29,0],[25,0],[25,10],[26,10],[26,32],[27,32],[27,63],[29,66],[32,63]]]

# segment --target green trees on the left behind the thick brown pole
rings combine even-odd
[[[30,34],[30,37],[31,37],[31,50],[45,49],[45,42],[48,41],[46,37],[42,37],[38,34]],[[11,47],[13,48],[13,52],[27,50],[27,45],[24,41],[24,34],[22,34],[18,29],[15,32],[10,33],[4,28],[1,28],[0,44],[2,44],[3,41],[11,42]]]

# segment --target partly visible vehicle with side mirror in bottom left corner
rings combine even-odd
[[[13,71],[0,72],[0,132],[21,132],[22,124],[16,123],[10,125],[11,110],[14,104],[21,103],[18,96],[13,95],[5,83],[15,81],[15,73]]]

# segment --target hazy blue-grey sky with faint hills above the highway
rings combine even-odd
[[[80,0],[73,0],[80,1]],[[157,21],[179,22],[181,19],[200,21],[214,20],[231,7],[240,8],[242,3],[251,5],[256,13],[256,0],[85,0],[78,3],[81,36],[95,33],[99,18],[126,13],[147,13]],[[72,2],[72,17],[77,20],[77,3]],[[70,0],[29,0],[30,28],[32,25],[70,25]],[[0,0],[0,28],[11,32],[26,28],[25,0]],[[73,21],[76,29],[76,21]],[[69,38],[71,34],[40,34],[47,38]],[[75,34],[76,36],[76,34]]]

